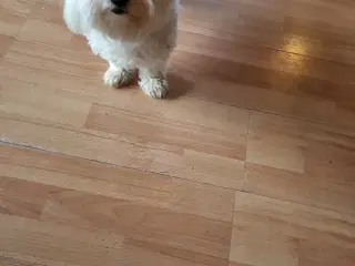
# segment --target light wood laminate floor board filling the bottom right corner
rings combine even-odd
[[[354,263],[353,215],[242,192],[236,193],[234,209],[232,262],[253,266]]]

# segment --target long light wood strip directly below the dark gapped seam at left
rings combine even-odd
[[[26,182],[37,182],[224,222],[232,221],[232,190],[4,144],[0,145],[0,154],[2,175],[23,181],[12,181],[19,184],[18,190]],[[12,195],[9,191],[6,198],[21,195],[20,192]],[[29,191],[37,195],[34,192]]]

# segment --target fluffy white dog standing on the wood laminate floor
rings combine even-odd
[[[140,72],[140,86],[161,99],[166,62],[175,47],[179,0],[64,0],[68,28],[84,35],[110,64],[104,82],[121,86]]]

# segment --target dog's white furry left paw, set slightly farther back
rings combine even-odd
[[[110,68],[103,76],[108,86],[120,88],[128,85],[134,80],[134,70]]]

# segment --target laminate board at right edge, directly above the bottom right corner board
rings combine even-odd
[[[244,191],[355,214],[349,129],[254,113]]]

